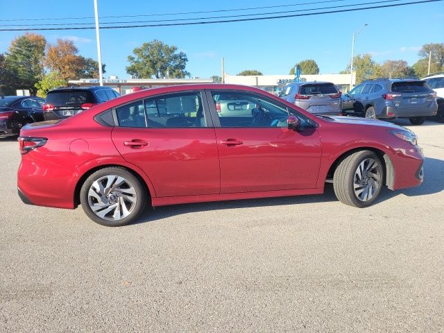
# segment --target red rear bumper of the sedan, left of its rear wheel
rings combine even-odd
[[[51,179],[51,182],[48,180]],[[17,173],[19,197],[28,205],[74,209],[76,171],[22,156]]]

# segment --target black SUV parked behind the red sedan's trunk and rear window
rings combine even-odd
[[[110,101],[120,95],[110,87],[71,87],[53,89],[43,105],[45,120],[64,119],[94,105]]]

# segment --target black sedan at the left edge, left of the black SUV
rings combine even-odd
[[[0,96],[0,138],[18,135],[26,123],[42,121],[43,103],[36,96]]]

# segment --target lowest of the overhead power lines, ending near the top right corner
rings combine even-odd
[[[130,26],[103,26],[101,29],[117,29],[117,28],[148,28],[148,27],[158,27],[158,26],[191,26],[191,25],[200,25],[200,24],[216,24],[216,23],[231,23],[231,22],[248,22],[248,21],[261,21],[265,19],[284,19],[289,17],[303,17],[303,16],[314,16],[314,15],[325,15],[325,14],[333,14],[337,12],[355,12],[357,10],[370,10],[377,8],[391,8],[391,7],[399,7],[399,6],[407,6],[407,5],[415,5],[418,3],[429,3],[429,2],[437,2],[443,0],[425,0],[425,1],[414,1],[407,3],[394,3],[391,5],[384,6],[370,6],[363,8],[352,8],[352,9],[341,9],[341,10],[328,10],[325,12],[307,12],[304,14],[292,14],[292,15],[280,15],[280,16],[272,16],[272,17],[250,17],[246,19],[226,19],[219,21],[201,21],[201,22],[182,22],[182,23],[164,23],[164,24],[137,24]],[[9,28],[9,29],[0,29],[0,31],[65,31],[65,30],[91,30],[94,29],[94,26],[81,26],[81,27],[65,27],[65,28]]]

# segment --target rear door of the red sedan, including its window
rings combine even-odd
[[[141,99],[113,110],[112,141],[157,197],[219,194],[216,137],[202,92]]]

